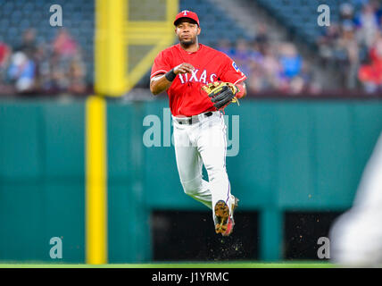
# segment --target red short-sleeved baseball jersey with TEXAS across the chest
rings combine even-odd
[[[199,44],[199,49],[194,53],[185,51],[180,44],[164,49],[154,60],[150,79],[170,71],[180,63],[192,64],[195,71],[179,73],[167,89],[170,111],[174,116],[216,111],[212,101],[202,90],[203,85],[216,80],[237,84],[246,79],[245,74],[228,55],[202,44]]]

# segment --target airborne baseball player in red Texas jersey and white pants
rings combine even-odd
[[[237,198],[228,181],[226,125],[220,111],[245,97],[246,76],[228,55],[198,42],[201,28],[196,13],[180,12],[174,25],[179,44],[156,56],[150,90],[154,95],[167,91],[169,96],[185,193],[210,207],[216,233],[228,236]],[[209,181],[203,180],[203,164]]]

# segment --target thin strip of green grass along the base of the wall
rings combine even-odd
[[[108,264],[108,265],[85,265],[85,264],[2,264],[0,268],[334,268],[328,262],[237,262],[237,263],[154,263],[154,264]]]

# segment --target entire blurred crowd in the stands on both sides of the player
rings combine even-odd
[[[339,4],[339,21],[331,21],[316,40],[318,53],[313,53],[319,55],[320,69],[303,58],[295,43],[271,40],[265,23],[257,27],[253,40],[222,39],[214,47],[247,75],[250,93],[318,94],[326,87],[316,79],[317,71],[327,68],[335,71],[338,89],[376,93],[382,90],[381,2]],[[26,29],[17,45],[2,42],[0,35],[0,94],[83,95],[92,89],[87,73],[93,71],[86,66],[67,29],[57,29],[53,40],[43,43],[37,41],[36,29]]]

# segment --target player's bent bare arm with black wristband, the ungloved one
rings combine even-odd
[[[161,73],[158,75],[155,75],[150,80],[150,91],[151,93],[156,96],[162,93],[163,91],[170,88],[173,80],[168,80],[170,78],[170,73],[173,72],[175,75],[179,73],[190,73],[191,71],[194,71],[194,67],[190,63],[180,63],[178,66],[173,68],[171,71],[167,73]],[[166,74],[168,75],[166,77]]]

